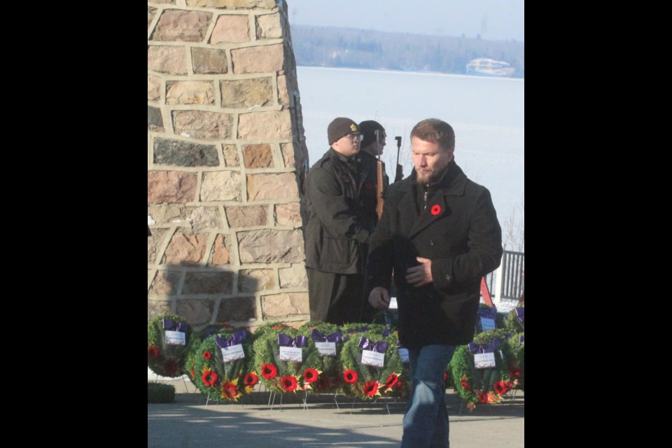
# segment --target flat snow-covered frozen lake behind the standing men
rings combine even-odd
[[[329,146],[327,126],[336,117],[377,120],[387,133],[381,156],[394,179],[399,163],[408,176],[409,137],[424,118],[440,118],[455,130],[455,161],[490,190],[500,223],[524,197],[524,79],[444,73],[412,73],[297,66],[310,165]]]

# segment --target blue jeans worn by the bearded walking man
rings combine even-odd
[[[456,346],[408,349],[411,395],[404,415],[401,448],[448,448],[448,412],[443,372]]]

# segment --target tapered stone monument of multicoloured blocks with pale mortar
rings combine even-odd
[[[286,1],[147,9],[148,319],[300,325],[308,155]]]

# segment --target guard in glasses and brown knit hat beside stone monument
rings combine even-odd
[[[342,325],[361,321],[366,245],[374,223],[366,218],[365,179],[355,156],[361,134],[349,118],[327,129],[329,150],[306,176],[306,272],[310,320]]]

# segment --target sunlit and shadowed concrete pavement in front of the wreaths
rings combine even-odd
[[[405,402],[362,402],[339,395],[255,391],[239,402],[210,400],[188,380],[175,386],[175,401],[148,404],[148,448],[367,448],[398,447]],[[507,394],[510,395],[511,393]],[[468,412],[447,391],[452,448],[524,448],[524,392]],[[281,401],[282,398],[282,402]],[[273,400],[274,399],[274,400]],[[270,403],[270,404],[269,404]]]

